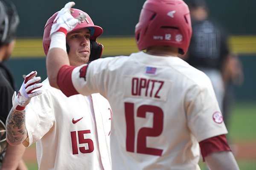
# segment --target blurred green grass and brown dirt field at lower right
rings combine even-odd
[[[256,105],[252,101],[235,102],[227,127],[231,150],[240,170],[256,170]],[[201,162],[201,169],[205,164]]]

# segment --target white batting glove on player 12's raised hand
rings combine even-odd
[[[50,37],[55,32],[63,32],[65,35],[67,35],[67,32],[72,31],[78,23],[85,20],[86,15],[84,14],[76,18],[71,15],[73,12],[71,7],[74,5],[74,2],[69,2],[64,6],[64,8],[58,11],[58,14],[52,24]]]

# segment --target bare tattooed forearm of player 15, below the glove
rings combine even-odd
[[[15,111],[13,108],[10,111],[6,121],[7,139],[12,142],[23,142],[27,138],[25,124],[25,110]]]

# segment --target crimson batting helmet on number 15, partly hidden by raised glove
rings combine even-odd
[[[103,51],[103,45],[96,42],[96,38],[99,37],[103,33],[103,29],[100,26],[95,26],[93,23],[93,20],[90,18],[90,16],[86,12],[81,11],[80,9],[75,9],[75,8],[72,8],[71,10],[74,11],[72,13],[73,17],[77,17],[81,14],[86,15],[86,19],[83,22],[77,24],[77,26],[72,31],[76,31],[81,28],[88,28],[90,30],[90,58],[89,58],[89,61],[93,61],[94,59],[100,58],[102,55],[102,51]],[[58,12],[53,14],[52,17],[50,17],[47,20],[47,23],[44,26],[43,46],[44,46],[45,55],[47,55],[47,53],[49,51],[49,46],[50,46],[50,42],[51,42],[51,39],[49,37],[50,31],[52,28],[52,23],[53,23],[55,17],[57,16],[57,14],[58,14]],[[69,52],[69,46],[67,45],[67,53],[68,52]]]

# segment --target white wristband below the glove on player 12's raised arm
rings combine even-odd
[[[61,28],[59,30],[61,30]],[[49,50],[52,48],[61,48],[64,51],[67,51],[66,34],[63,32],[64,30],[66,29],[63,28],[62,31],[55,32],[51,35],[51,43],[50,43]]]

